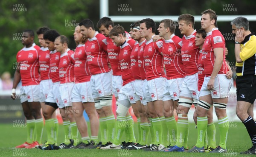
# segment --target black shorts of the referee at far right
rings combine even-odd
[[[251,104],[256,99],[256,76],[236,77],[236,101],[245,101]]]

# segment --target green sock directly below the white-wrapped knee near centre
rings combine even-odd
[[[117,115],[116,120],[117,120],[117,128],[116,128],[116,135],[115,135],[113,144],[119,145],[119,144],[121,144],[122,134],[125,131],[126,119],[125,119],[125,116]]]

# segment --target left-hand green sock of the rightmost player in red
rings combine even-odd
[[[198,139],[195,146],[199,148],[204,147],[204,137],[207,129],[207,123],[208,123],[207,116],[197,118]]]

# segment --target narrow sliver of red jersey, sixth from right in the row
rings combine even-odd
[[[138,67],[140,70],[140,78],[142,80],[146,79],[146,70],[145,70],[145,64],[144,64],[144,46],[145,46],[146,40],[139,43],[139,51],[138,51]]]

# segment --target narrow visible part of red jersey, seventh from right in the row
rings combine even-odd
[[[138,66],[138,51],[139,51],[140,45],[139,42],[135,42],[134,48],[131,51],[131,70],[132,70],[132,76],[140,80],[140,69]]]

